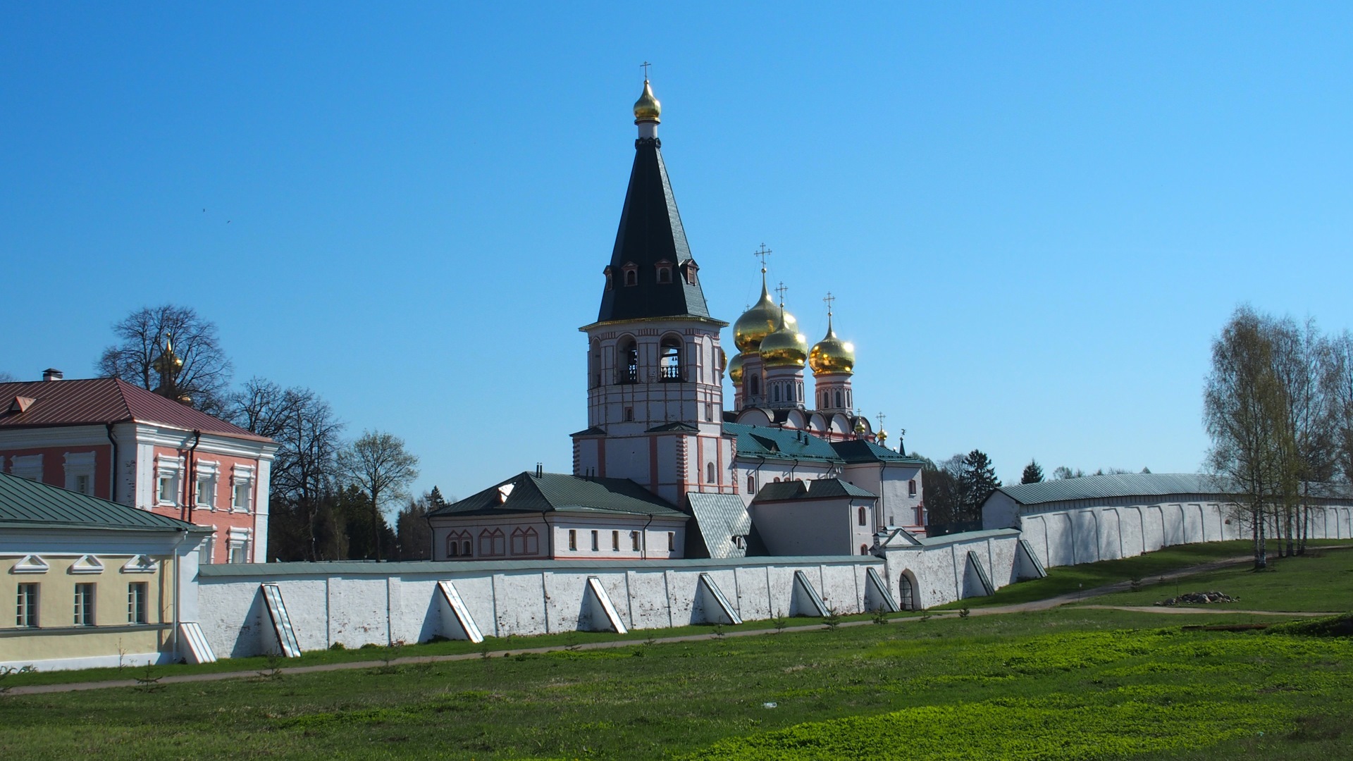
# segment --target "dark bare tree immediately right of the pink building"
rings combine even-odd
[[[269,479],[273,521],[280,538],[287,528],[284,516],[292,516],[300,525],[288,535],[290,543],[302,546],[287,547],[284,542],[272,540],[269,544],[279,555],[337,559],[326,550],[331,543],[321,540],[337,531],[322,524],[334,520],[326,508],[338,490],[337,456],[344,428],[329,402],[310,389],[283,389],[271,380],[252,378],[227,398],[226,417],[277,443]]]

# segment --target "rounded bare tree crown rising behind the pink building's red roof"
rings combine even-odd
[[[133,311],[114,322],[112,332],[119,343],[99,357],[95,370],[100,375],[156,390],[161,382],[156,360],[172,337],[175,355],[183,362],[173,378],[176,397],[188,397],[203,412],[223,412],[234,368],[221,349],[215,322],[198,317],[191,306],[166,303]]]

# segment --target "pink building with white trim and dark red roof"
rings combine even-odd
[[[211,527],[202,562],[264,562],[276,450],[116,378],[0,383],[0,470]]]

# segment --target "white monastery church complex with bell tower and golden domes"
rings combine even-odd
[[[601,307],[579,328],[587,428],[572,435],[572,474],[522,473],[434,512],[434,559],[870,554],[898,532],[924,536],[921,460],[852,412],[854,347],[828,310],[809,348],[770,297],[764,248],[760,299],[733,324],[727,357],[728,322],[705,302],[660,116],[644,80]]]

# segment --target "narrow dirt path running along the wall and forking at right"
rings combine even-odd
[[[1210,570],[1222,569],[1226,566],[1234,566],[1238,563],[1247,563],[1253,561],[1253,557],[1243,555],[1237,558],[1227,558],[1224,561],[1214,561],[1210,563],[1203,563],[1197,566],[1189,566],[1187,569],[1178,569],[1173,571],[1166,571],[1162,574],[1153,574],[1151,578],[1173,580],[1183,578],[1185,575],[1192,575],[1197,573],[1207,573]],[[1074,594],[1059,594],[1057,597],[1049,597],[1046,600],[1034,600],[1031,603],[1019,603],[1015,605],[997,605],[990,608],[971,608],[969,615],[973,616],[996,616],[1004,613],[1023,613],[1030,611],[1047,611],[1050,608],[1057,608],[1058,605],[1066,605],[1069,603],[1080,603],[1086,597],[1097,597],[1100,594],[1108,594],[1111,592],[1124,592],[1128,589],[1131,582],[1120,581],[1118,584],[1108,584],[1105,586],[1097,586],[1095,589],[1086,589],[1084,592],[1077,592]],[[1237,611],[1231,608],[1193,608],[1193,607],[1130,607],[1130,605],[1084,605],[1085,608],[1096,608],[1103,611],[1131,611],[1134,613],[1243,613],[1253,616],[1334,616],[1337,612],[1330,613],[1293,613],[1281,611]],[[958,617],[958,611],[944,611],[936,612],[932,617],[936,619],[953,619]],[[912,623],[919,622],[920,616],[908,616],[900,619],[892,619],[889,623]],[[843,622],[839,624],[842,627],[855,627],[855,626],[874,626],[874,622]],[[820,631],[823,624],[815,623],[809,626],[790,626],[781,631]],[[667,645],[672,642],[701,642],[706,639],[718,639],[724,636],[758,636],[775,630],[771,628],[752,628],[752,630],[735,630],[721,634],[689,634],[685,636],[659,636],[659,638],[645,638],[645,639],[622,639],[614,642],[589,642],[586,645],[575,645],[572,647],[564,645],[556,645],[552,647],[517,647],[510,650],[494,650],[490,653],[459,653],[455,655],[422,655],[415,658],[395,658],[390,661],[390,665],[406,666],[415,664],[442,664],[448,661],[474,661],[475,658],[505,658],[513,654],[521,653],[556,653],[559,650],[605,650],[609,647],[633,647],[636,645]],[[384,661],[354,661],[348,664],[323,664],[319,666],[290,666],[284,669],[277,669],[279,674],[313,674],[321,672],[344,672],[354,669],[377,669],[386,666]],[[264,676],[258,670],[248,672],[215,672],[204,674],[177,674],[161,677],[156,684],[188,684],[188,682],[203,682],[203,681],[222,681],[222,680],[238,680],[238,678],[271,678]],[[137,680],[107,680],[107,681],[84,681],[84,682],[69,682],[69,684],[35,684],[27,687],[14,687],[5,695],[46,695],[53,692],[78,692],[85,689],[106,689],[112,687],[137,687],[141,682]]]

